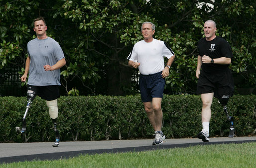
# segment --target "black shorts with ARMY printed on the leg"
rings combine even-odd
[[[234,93],[234,81],[229,69],[216,74],[201,71],[197,82],[197,94],[214,93],[217,99],[229,99]]]

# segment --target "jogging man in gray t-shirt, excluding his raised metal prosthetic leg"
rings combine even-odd
[[[60,135],[56,128],[58,117],[57,98],[60,97],[58,88],[61,85],[60,68],[66,64],[66,61],[60,45],[46,35],[47,26],[44,18],[35,19],[33,29],[37,38],[27,44],[28,57],[25,72],[20,79],[22,82],[26,82],[29,72],[27,99],[32,102],[35,96],[38,95],[46,100],[56,135],[53,146],[59,146]]]

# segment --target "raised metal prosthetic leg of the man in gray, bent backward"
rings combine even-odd
[[[26,116],[27,116],[27,112],[32,104],[32,101],[35,99],[36,97],[36,94],[34,91],[32,90],[28,90],[27,91],[27,106],[26,106],[26,111],[25,111],[25,114],[22,118],[22,128],[20,130],[20,127],[16,127],[16,131],[17,132],[20,132],[21,134],[25,133],[26,131],[26,128],[27,128],[27,125],[26,125]]]

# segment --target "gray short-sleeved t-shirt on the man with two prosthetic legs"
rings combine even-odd
[[[27,43],[30,58],[28,84],[33,86],[61,85],[60,69],[45,71],[44,65],[54,65],[64,58],[60,45],[52,38],[35,38]]]

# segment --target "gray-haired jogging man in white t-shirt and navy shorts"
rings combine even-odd
[[[161,130],[163,119],[161,102],[165,78],[169,75],[169,68],[174,61],[175,54],[165,42],[153,38],[155,33],[153,23],[142,23],[141,33],[144,40],[134,45],[127,59],[130,67],[139,68],[141,99],[149,121],[155,130],[153,145],[158,145],[162,144],[165,139]],[[166,65],[164,57],[168,58]]]

